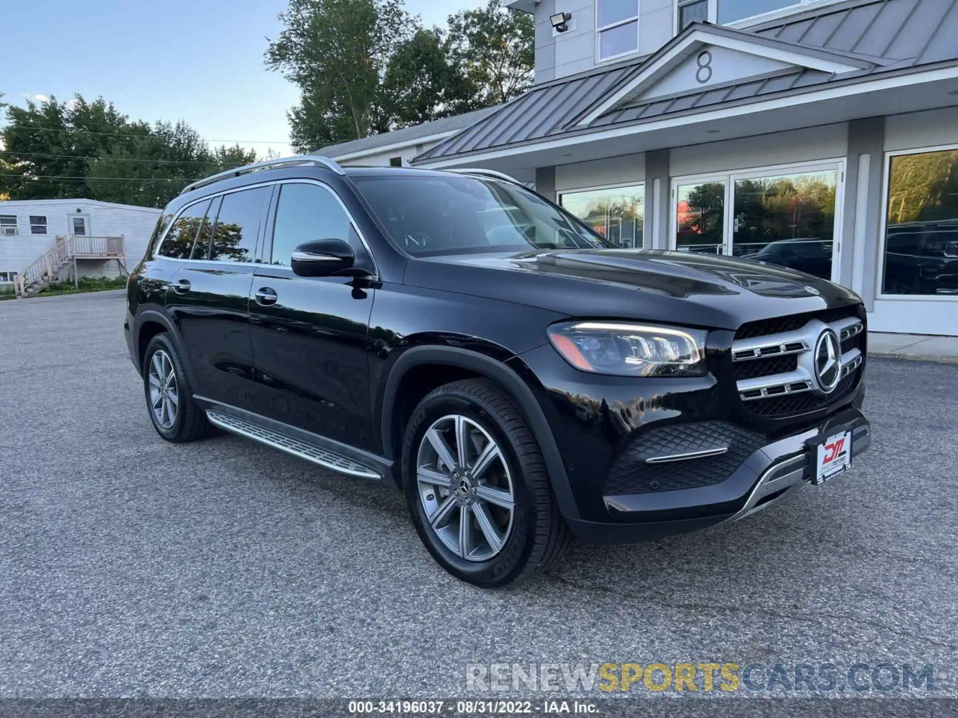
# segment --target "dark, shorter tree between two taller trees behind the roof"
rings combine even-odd
[[[382,80],[383,130],[427,123],[472,109],[475,86],[449,62],[442,31],[417,31],[389,58]]]

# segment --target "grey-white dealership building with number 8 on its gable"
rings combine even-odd
[[[795,266],[872,329],[958,335],[958,2],[503,4],[535,14],[535,87],[414,167],[508,172],[621,245]]]

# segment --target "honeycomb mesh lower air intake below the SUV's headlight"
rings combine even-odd
[[[603,493],[605,496],[644,494],[719,483],[764,446],[765,441],[763,435],[727,421],[699,421],[651,429],[633,439],[613,462]],[[726,451],[718,456],[649,462],[722,448]]]

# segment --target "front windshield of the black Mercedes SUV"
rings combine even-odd
[[[409,174],[353,180],[393,242],[415,257],[612,246],[512,182]]]

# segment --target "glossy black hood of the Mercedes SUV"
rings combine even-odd
[[[659,250],[545,250],[409,261],[404,283],[577,318],[735,329],[858,303],[831,281],[738,258]]]

